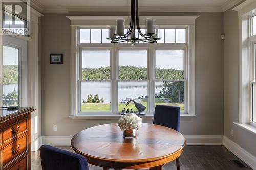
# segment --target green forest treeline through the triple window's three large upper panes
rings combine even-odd
[[[183,70],[156,69],[156,79],[183,79],[183,75]],[[82,79],[110,79],[110,67],[83,68]],[[147,68],[120,66],[119,79],[147,79]]]

